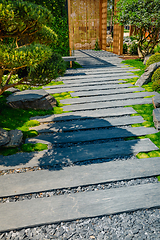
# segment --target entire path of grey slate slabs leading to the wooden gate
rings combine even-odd
[[[59,78],[62,85],[44,87],[51,94],[74,91],[73,98],[61,101],[69,104],[63,106],[67,112],[32,118],[41,123],[31,128],[39,136],[26,143],[46,143],[49,149],[0,157],[0,171],[9,173],[0,176],[1,232],[160,207],[160,184],[147,180],[160,175],[160,158],[135,157],[158,148],[149,138],[129,139],[157,130],[132,127],[144,120],[132,116],[136,114],[132,107],[125,107],[150,104],[151,98],[145,97],[154,93],[126,84],[125,78],[136,77],[131,72],[134,69],[126,68],[115,54],[91,50],[75,54],[83,68],[69,69]],[[10,169],[21,173],[13,174]],[[143,184],[144,178],[148,184]],[[139,185],[72,191],[85,186],[92,189],[95,184],[134,183],[135,179],[140,179]],[[64,189],[71,192],[46,194]],[[35,194],[41,197],[34,198]],[[10,200],[3,203],[4,199]]]

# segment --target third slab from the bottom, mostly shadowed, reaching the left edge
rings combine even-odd
[[[17,153],[11,156],[0,156],[0,170],[33,167],[54,166],[61,163],[84,162],[93,159],[108,159],[116,156],[135,155],[139,152],[159,150],[150,139],[116,141],[54,148],[33,153]]]

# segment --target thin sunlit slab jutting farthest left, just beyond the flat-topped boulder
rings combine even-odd
[[[132,87],[133,85],[130,83],[127,84],[104,84],[104,85],[92,85],[92,86],[78,86],[78,87],[62,87],[62,88],[50,88],[46,89],[46,92],[49,94],[54,94],[54,93],[62,93],[62,92],[69,92],[69,91],[74,91],[74,92],[79,92],[79,91],[92,91],[92,90],[103,90],[103,89],[119,89],[119,88],[128,88]]]

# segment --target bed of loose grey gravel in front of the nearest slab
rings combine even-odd
[[[158,240],[160,209],[145,209],[110,216],[80,219],[0,233],[2,240]]]

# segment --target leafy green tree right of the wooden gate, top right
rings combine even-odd
[[[119,0],[116,22],[136,26],[136,38],[142,56],[153,53],[159,42],[160,4],[159,0]],[[148,33],[148,36],[146,35]]]

